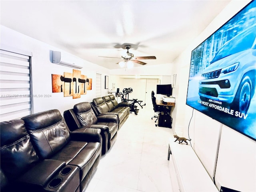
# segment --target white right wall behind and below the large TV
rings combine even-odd
[[[176,110],[174,131],[178,135],[188,137],[189,128],[194,151],[212,180],[215,178],[218,189],[220,186],[225,186],[238,191],[256,191],[256,142],[186,106],[190,57],[196,46],[249,2],[249,0],[230,2],[173,62],[175,66],[181,66],[177,69],[178,95],[174,108]]]

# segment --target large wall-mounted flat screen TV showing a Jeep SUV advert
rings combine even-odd
[[[255,84],[252,1],[192,50],[186,104],[256,140]]]

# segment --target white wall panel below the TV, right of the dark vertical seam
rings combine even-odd
[[[254,140],[222,126],[215,174],[216,186],[243,192],[256,191],[256,144]]]

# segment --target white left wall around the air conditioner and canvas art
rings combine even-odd
[[[62,50],[25,36],[5,26],[1,26],[0,35],[1,44],[32,52],[32,93],[33,95],[47,94],[51,96],[48,98],[33,97],[34,113],[56,108],[63,114],[64,110],[73,108],[74,104],[86,101],[91,102],[96,94],[96,72],[102,74],[102,96],[106,95],[107,90],[104,89],[104,77],[109,74],[109,70],[82,59],[80,61],[84,64],[84,67],[80,71],[81,74],[92,78],[92,90],[88,90],[86,95],[81,95],[81,98],[77,99],[73,99],[72,96],[64,97],[63,92],[52,93],[51,75],[73,72],[73,68],[50,62],[50,50]]]

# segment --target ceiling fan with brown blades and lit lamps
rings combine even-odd
[[[119,58],[119,59],[123,59],[122,62],[135,62],[141,65],[145,65],[145,62],[139,61],[138,59],[156,59],[155,56],[142,56],[142,57],[134,57],[134,55],[132,53],[129,52],[129,49],[131,48],[131,45],[125,45],[124,46],[127,49],[126,55],[122,55],[122,58],[120,57],[106,57],[106,56],[99,56],[99,57],[106,57],[106,58]],[[120,62],[118,62],[118,64],[120,64]]]

